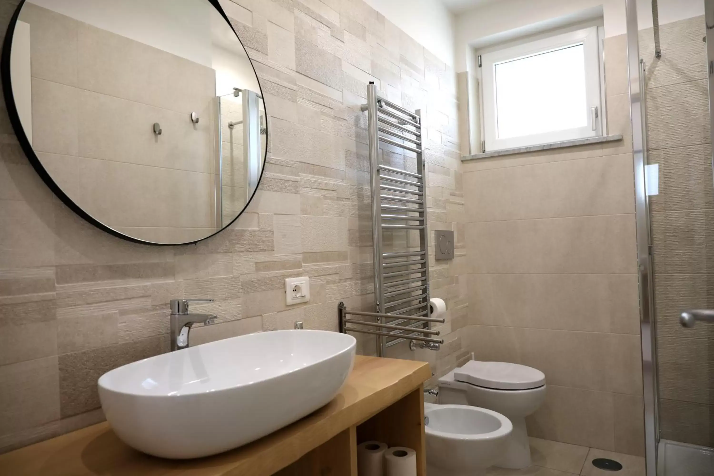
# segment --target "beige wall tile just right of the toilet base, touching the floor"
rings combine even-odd
[[[533,437],[608,450],[615,445],[612,393],[548,385],[545,402],[526,422]]]

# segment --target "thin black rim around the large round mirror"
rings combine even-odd
[[[261,86],[261,80],[260,77],[258,76],[258,73],[256,72],[256,67],[253,66],[253,60],[251,60],[251,56],[248,55],[248,50],[246,50],[246,46],[243,44],[243,41],[241,41],[241,37],[238,36],[238,33],[236,32],[236,29],[233,28],[233,24],[231,24],[231,21],[228,19],[228,16],[226,16],[226,12],[223,11],[223,8],[221,7],[221,4],[218,3],[218,0],[206,0],[208,3],[210,3],[213,8],[215,8],[219,14],[223,17],[223,19],[226,21],[228,26],[231,27],[231,30],[233,31],[233,34],[236,35],[236,39],[238,39],[238,42],[241,44],[243,47],[243,51],[246,52],[246,56],[248,56],[248,61],[251,62],[251,68],[253,68],[253,74],[256,75],[256,79],[258,80],[258,88],[260,88],[260,95],[261,98],[263,98],[263,109],[266,113],[266,150],[263,151],[263,167],[261,168],[261,174],[258,177],[258,183],[256,183],[256,188],[253,190],[253,194],[251,195],[250,198],[248,198],[248,201],[246,201],[245,206],[241,209],[241,212],[236,215],[236,218],[233,218],[230,223],[228,223],[226,226],[223,226],[220,230],[216,231],[216,233],[211,233],[211,235],[206,236],[205,238],[201,238],[200,240],[193,240],[193,241],[187,241],[186,243],[153,243],[151,241],[145,241],[145,240],[139,240],[139,238],[134,238],[132,236],[124,235],[124,233],[119,233],[119,231],[114,230],[114,228],[111,228],[109,226],[106,226],[104,223],[101,223],[101,221],[97,220],[93,216],[89,215],[89,213],[86,213],[79,205],[74,203],[74,201],[69,198],[69,196],[62,191],[60,186],[52,179],[52,177],[49,175],[49,173],[45,170],[44,166],[42,165],[41,161],[39,160],[39,157],[37,157],[37,154],[35,153],[34,149],[32,148],[30,141],[27,138],[27,135],[25,133],[24,128],[22,127],[22,123],[20,121],[20,116],[17,112],[17,106],[15,103],[15,97],[12,93],[12,81],[11,81],[11,76],[10,76],[10,53],[12,50],[12,40],[15,34],[15,25],[17,23],[17,20],[19,19],[20,12],[22,11],[22,6],[24,6],[26,0],[20,0],[20,4],[17,6],[14,14],[12,15],[12,18],[10,19],[10,24],[7,27],[7,31],[5,33],[5,40],[2,46],[2,55],[0,56],[0,79],[2,81],[2,92],[3,96],[5,98],[5,105],[7,108],[7,113],[10,118],[10,123],[12,124],[12,128],[15,131],[15,136],[17,137],[17,140],[20,143],[20,147],[22,148],[22,151],[25,153],[25,156],[28,158],[30,161],[32,167],[35,169],[35,171],[39,174],[39,176],[42,178],[42,181],[46,183],[46,185],[50,188],[51,191],[54,192],[54,194],[59,198],[66,206],[68,206],[71,211],[74,211],[77,215],[81,216],[81,218],[84,218],[85,221],[88,221],[92,225],[96,226],[96,228],[99,228],[102,231],[106,231],[106,233],[109,233],[111,235],[114,235],[118,238],[121,238],[123,240],[128,240],[132,241],[134,243],[141,243],[142,245],[154,245],[154,246],[181,246],[181,245],[192,245],[195,243],[198,243],[199,241],[207,240],[208,238],[211,238],[212,236],[216,236],[218,233],[221,233],[221,231],[225,230],[229,226],[233,224],[238,218],[240,218],[241,215],[246,211],[246,208],[248,208],[248,205],[250,205],[251,201],[253,201],[253,197],[256,196],[256,193],[258,191],[258,187],[261,184],[261,180],[263,179],[263,172],[265,171],[266,168],[266,161],[268,158],[268,141],[269,141],[269,132],[268,132],[268,109],[265,104],[265,96],[263,95],[263,88]]]

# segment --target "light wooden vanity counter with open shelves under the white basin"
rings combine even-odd
[[[428,378],[427,363],[358,355],[347,383],[328,405],[235,450],[164,460],[131,449],[103,422],[0,455],[0,475],[356,476],[356,445],[380,440],[416,450],[418,475],[425,476]]]

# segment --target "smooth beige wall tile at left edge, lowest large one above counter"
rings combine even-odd
[[[0,434],[59,420],[59,373],[56,357],[0,367]]]

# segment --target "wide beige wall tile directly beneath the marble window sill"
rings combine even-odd
[[[634,213],[632,156],[464,174],[467,221]]]

